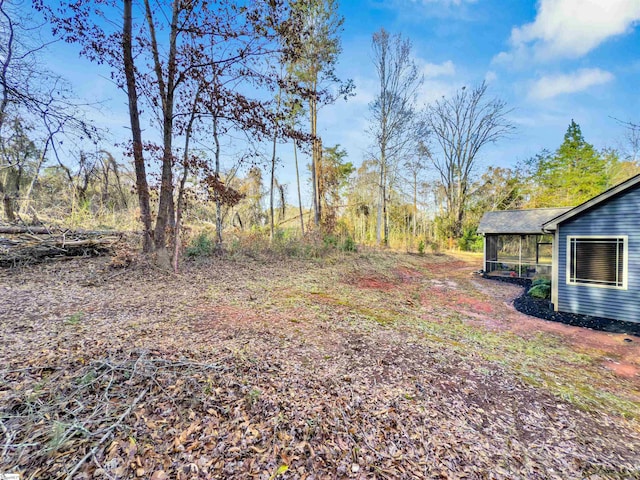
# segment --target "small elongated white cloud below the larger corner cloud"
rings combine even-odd
[[[534,100],[545,100],[567,93],[576,93],[613,80],[610,72],[585,68],[570,74],[547,75],[538,79],[529,91]]]

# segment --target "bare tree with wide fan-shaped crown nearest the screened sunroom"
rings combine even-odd
[[[515,130],[507,119],[509,113],[504,101],[487,98],[484,82],[473,89],[462,87],[453,97],[443,97],[427,109],[425,123],[439,147],[430,151],[429,158],[444,190],[450,238],[462,234],[478,153]]]

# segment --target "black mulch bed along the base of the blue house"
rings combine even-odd
[[[514,283],[524,287],[522,295],[513,301],[513,306],[516,310],[526,315],[542,318],[544,320],[551,320],[553,322],[565,323],[576,327],[585,327],[612,333],[625,333],[627,335],[640,337],[640,323],[623,322],[620,320],[612,320],[610,318],[602,317],[591,317],[589,315],[577,315],[575,313],[555,312],[551,308],[548,300],[541,300],[527,295],[527,291],[531,288],[531,280],[527,278],[489,277],[486,275],[484,278],[500,282]]]

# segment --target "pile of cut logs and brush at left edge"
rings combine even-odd
[[[121,232],[0,225],[0,267],[113,253]]]

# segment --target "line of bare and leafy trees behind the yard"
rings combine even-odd
[[[130,139],[117,161],[78,113],[90,105],[42,67],[47,42],[29,15],[1,1],[0,195],[10,222],[45,204],[135,207],[143,250],[174,265],[185,221],[213,221],[218,246],[235,228],[272,240],[312,230],[474,248],[484,211],[577,204],[638,172],[637,125],[624,125],[635,148],[625,156],[596,151],[573,121],[555,152],[479,171],[480,152],[515,133],[507,104],[480,83],[419,105],[412,44],[384,29],[371,45],[371,148],[355,168],[318,133],[322,106],[354,94],[335,71],[344,23],[336,0],[33,3],[55,38],[109,68],[127,99]],[[295,160],[295,206],[276,175],[284,148]]]

